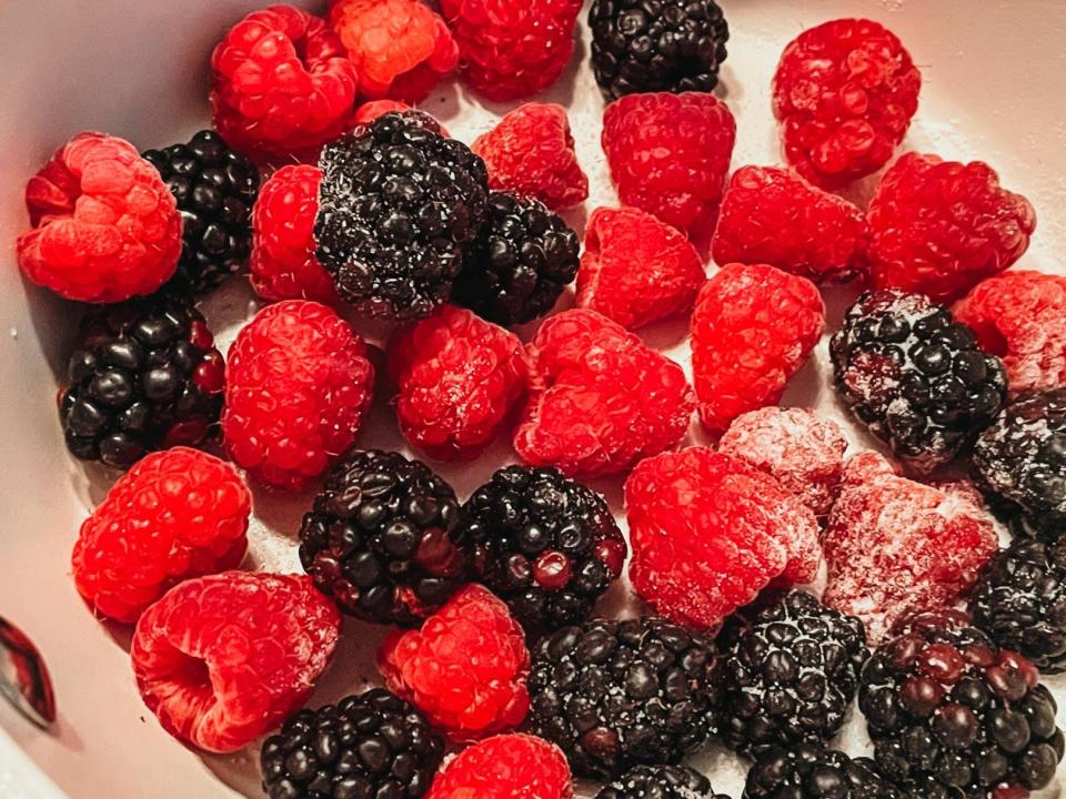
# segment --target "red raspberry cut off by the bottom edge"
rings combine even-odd
[[[543,738],[489,738],[449,760],[425,799],[571,799],[570,766]]]

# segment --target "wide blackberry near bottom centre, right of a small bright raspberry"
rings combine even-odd
[[[721,658],[683,627],[594,619],[545,636],[532,655],[529,731],[579,776],[676,763],[717,729]]]

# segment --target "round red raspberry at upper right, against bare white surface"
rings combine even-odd
[[[842,19],[805,30],[774,74],[785,159],[825,188],[873,174],[903,141],[921,89],[911,53],[877,22]]]

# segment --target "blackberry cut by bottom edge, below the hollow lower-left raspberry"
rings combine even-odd
[[[375,688],[301,710],[263,744],[270,799],[418,799],[444,756],[444,740],[411,705]]]

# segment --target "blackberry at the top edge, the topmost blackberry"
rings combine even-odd
[[[593,0],[592,68],[604,95],[708,92],[730,27],[714,0]]]

